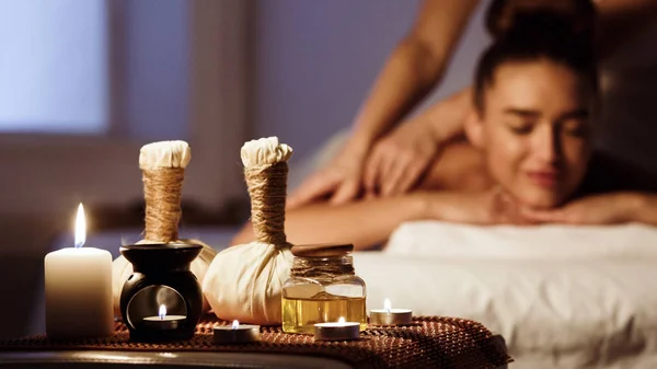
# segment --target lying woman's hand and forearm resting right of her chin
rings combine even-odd
[[[626,193],[592,195],[560,208],[522,209],[523,217],[537,222],[565,224],[614,224],[631,221],[634,196]]]

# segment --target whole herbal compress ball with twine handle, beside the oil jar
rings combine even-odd
[[[281,322],[283,284],[292,262],[284,228],[291,154],[292,149],[276,137],[242,147],[255,241],[220,252],[206,273],[204,295],[220,319],[261,325]]]

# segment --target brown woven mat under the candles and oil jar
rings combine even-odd
[[[497,368],[511,361],[504,345],[477,322],[443,316],[415,318],[413,325],[369,327],[360,339],[315,342],[311,335],[283,333],[280,326],[262,327],[261,342],[215,345],[212,327],[228,322],[203,319],[188,341],[166,344],[132,343],[123,323],[107,338],[53,341],[45,335],[0,342],[2,350],[107,349],[149,351],[281,353],[323,356],[355,368]]]

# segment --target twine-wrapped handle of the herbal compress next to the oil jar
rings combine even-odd
[[[292,149],[269,137],[252,140],[242,147],[244,177],[251,196],[251,221],[257,242],[284,246],[287,160]]]

